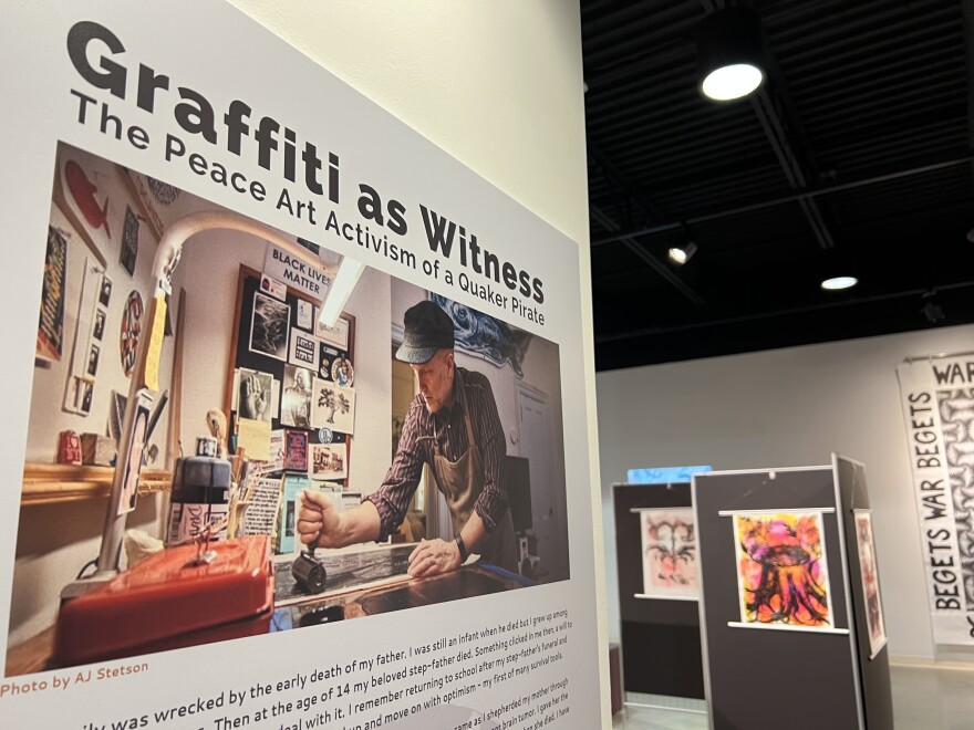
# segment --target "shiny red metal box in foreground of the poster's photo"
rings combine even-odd
[[[273,614],[267,535],[169,548],[61,606],[54,666],[266,634]]]

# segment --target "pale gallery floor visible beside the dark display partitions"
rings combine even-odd
[[[897,730],[971,730],[974,670],[892,667]],[[705,715],[626,706],[615,716],[621,730],[706,730]]]

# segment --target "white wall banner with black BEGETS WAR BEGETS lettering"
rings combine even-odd
[[[897,368],[937,644],[974,644],[974,356]]]

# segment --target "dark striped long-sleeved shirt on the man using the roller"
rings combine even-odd
[[[504,484],[504,457],[507,448],[500,416],[490,382],[480,373],[456,367],[454,371],[454,404],[431,414],[422,395],[417,395],[403,424],[398,450],[385,479],[375,492],[363,501],[375,504],[382,521],[380,540],[385,540],[398,530],[410,500],[416,491],[423,473],[423,465],[433,466],[434,441],[439,444],[439,452],[450,461],[456,461],[469,448],[467,429],[464,426],[464,408],[470,414],[474,439],[480,449],[484,466],[484,491],[474,505],[484,520],[487,531],[493,531],[507,512],[507,489]]]

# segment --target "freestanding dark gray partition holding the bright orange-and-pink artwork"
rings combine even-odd
[[[893,727],[885,653],[862,640],[869,609],[853,581],[862,571],[850,570],[863,559],[867,572],[875,564],[874,552],[850,540],[869,507],[864,480],[852,477],[857,465],[833,459],[833,467],[693,478],[712,728],[783,717]],[[878,604],[873,611],[881,615]]]

